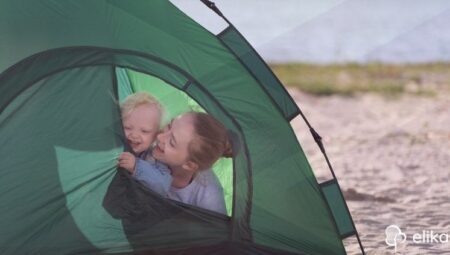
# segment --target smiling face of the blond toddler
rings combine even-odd
[[[159,131],[161,114],[152,106],[142,105],[122,119],[125,137],[135,154],[147,150]]]

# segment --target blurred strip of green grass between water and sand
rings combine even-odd
[[[392,64],[272,64],[288,87],[314,95],[347,95],[372,92],[385,96],[414,94],[435,96],[450,89],[450,63]]]

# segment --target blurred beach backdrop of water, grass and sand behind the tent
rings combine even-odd
[[[200,1],[172,0],[211,32]],[[448,254],[450,1],[216,0],[323,137],[367,254]],[[331,177],[303,120],[292,126],[319,182]],[[445,241],[445,240],[444,240]],[[359,254],[356,240],[345,240]]]

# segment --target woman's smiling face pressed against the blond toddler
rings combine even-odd
[[[172,120],[157,136],[157,146],[152,151],[155,159],[171,168],[189,168],[188,146],[194,138],[193,117],[181,115]],[[188,169],[189,170],[189,169]]]

